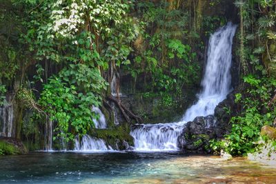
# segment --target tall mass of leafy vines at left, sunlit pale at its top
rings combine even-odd
[[[76,134],[86,134],[98,117],[91,112],[92,105],[101,105],[107,90],[106,70],[112,63],[117,67],[130,63],[130,43],[136,37],[127,16],[132,1],[15,3],[28,12],[22,23],[26,34],[20,41],[39,61],[31,83],[43,83],[37,106],[57,124],[57,136],[69,141]],[[48,62],[59,68],[49,78]]]

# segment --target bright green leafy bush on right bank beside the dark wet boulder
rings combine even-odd
[[[275,104],[268,106],[276,80],[248,75],[244,77],[244,82],[249,85],[248,89],[243,95],[236,94],[235,100],[244,110],[230,120],[233,123],[232,130],[224,141],[210,142],[210,147],[215,151],[223,149],[233,155],[255,151],[254,142],[259,139],[262,126],[272,125],[276,118]]]

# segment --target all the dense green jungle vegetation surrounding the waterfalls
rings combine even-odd
[[[40,133],[33,127],[50,119],[56,123],[55,136],[66,141],[94,127],[92,119],[99,114],[91,107],[104,108],[112,79],[119,74],[130,76],[132,93],[161,96],[168,108],[175,104],[175,96],[199,85],[202,39],[227,21],[202,12],[205,6],[220,3],[4,0],[0,105],[13,92],[21,107],[19,114],[32,112],[27,121],[19,119],[27,139],[37,139]],[[271,100],[276,86],[276,3],[238,0],[235,6],[239,43],[234,49],[240,67],[233,77],[241,76],[236,94],[239,109],[230,121],[230,134],[223,141],[213,141],[211,147],[244,154],[255,149],[253,142],[259,139],[262,126],[272,125],[276,118]],[[115,90],[119,94],[119,87]]]

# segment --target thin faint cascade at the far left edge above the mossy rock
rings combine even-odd
[[[12,102],[0,107],[0,136],[15,136],[14,106]]]

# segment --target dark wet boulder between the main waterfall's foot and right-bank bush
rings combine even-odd
[[[230,132],[230,119],[237,114],[234,94],[228,94],[227,98],[217,105],[214,116],[199,116],[186,123],[177,139],[177,146],[184,152],[209,153],[210,139],[222,139]]]

